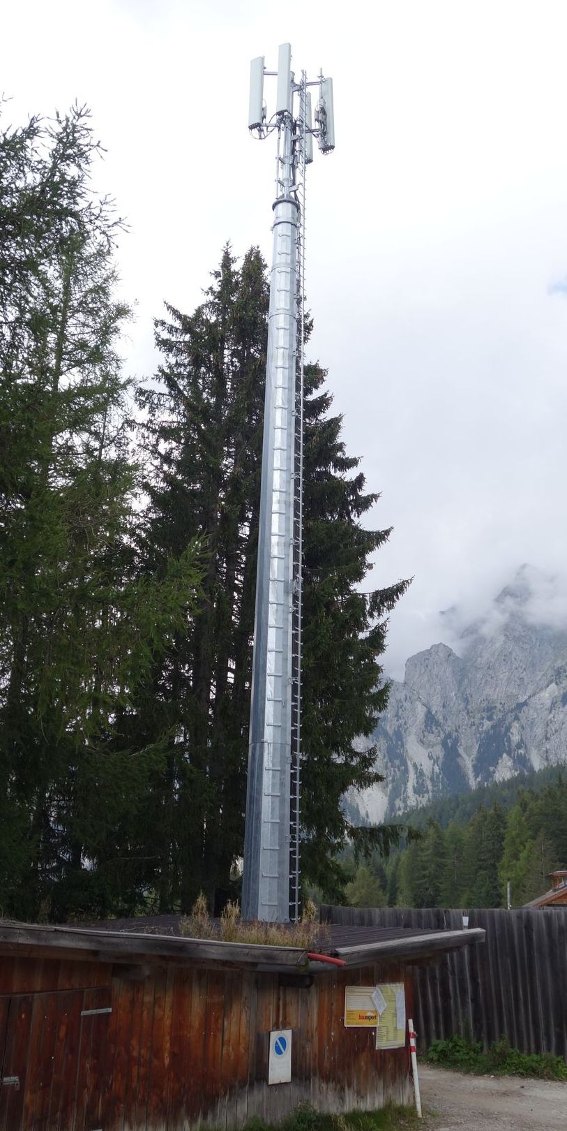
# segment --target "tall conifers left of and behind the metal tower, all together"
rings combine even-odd
[[[0,914],[23,920],[218,910],[243,848],[267,268],[226,247],[134,382],[95,169],[81,107],[0,135]],[[319,363],[305,417],[302,871],[340,899],[347,840],[398,835],[340,798],[377,780],[355,739],[407,582],[359,592],[390,532]]]

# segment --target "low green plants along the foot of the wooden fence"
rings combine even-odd
[[[429,1064],[478,1076],[524,1076],[538,1080],[567,1080],[567,1064],[552,1053],[521,1053],[506,1037],[485,1052],[481,1044],[461,1036],[434,1041],[426,1054]]]

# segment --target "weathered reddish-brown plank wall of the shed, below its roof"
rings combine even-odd
[[[343,1024],[351,984],[404,979],[411,1016],[411,972],[400,967],[317,975],[309,988],[218,967],[156,966],[141,982],[103,962],[0,959],[0,1055],[11,1001],[19,1029],[7,1048],[21,1077],[18,1096],[0,1089],[7,1131],[228,1129],[278,1122],[302,1102],[411,1103],[407,1050],[376,1052],[374,1029]],[[80,1016],[107,1003],[112,1013]],[[293,1080],[269,1086],[277,1028],[293,1029]]]

